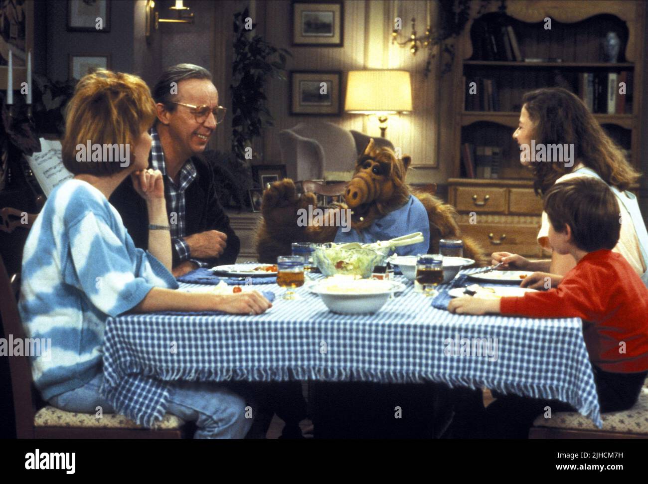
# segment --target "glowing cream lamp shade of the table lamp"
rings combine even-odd
[[[411,111],[410,73],[349,71],[344,110],[360,114]]]

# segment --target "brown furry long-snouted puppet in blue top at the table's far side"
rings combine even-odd
[[[371,139],[358,157],[353,178],[343,194],[345,203],[326,211],[328,220],[316,219],[311,224],[301,223],[299,214],[307,213],[309,205],[312,213],[317,206],[316,195],[297,196],[291,179],[275,181],[263,194],[263,219],[257,233],[259,262],[274,264],[277,256],[290,255],[292,242],[366,243],[413,232],[422,232],[424,242],[398,248],[399,255],[435,253],[441,238],[461,238],[464,257],[478,264],[485,262],[478,244],[461,236],[453,207],[406,185],[410,163],[409,156],[397,159],[391,149],[376,148]],[[345,218],[335,212],[347,208],[351,212],[350,230],[336,226]]]

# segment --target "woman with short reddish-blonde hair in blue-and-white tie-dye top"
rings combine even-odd
[[[44,400],[66,411],[120,411],[99,387],[106,319],[124,312],[213,311],[260,314],[257,292],[209,295],[176,291],[163,180],[147,170],[156,116],[145,82],[99,70],[82,78],[69,103],[62,156],[75,177],[52,190],[23,253],[19,311],[30,338],[51,338],[32,359]],[[128,176],[146,200],[150,252],[135,248],[108,198]],[[242,438],[251,426],[245,402],[218,384],[168,384],[167,413],[196,421],[196,438]]]

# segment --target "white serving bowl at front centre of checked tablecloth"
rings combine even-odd
[[[331,312],[337,314],[373,314],[389,295],[404,289],[400,282],[376,279],[335,280],[329,277],[310,286]]]

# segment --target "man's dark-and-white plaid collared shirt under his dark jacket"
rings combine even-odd
[[[185,190],[191,182],[194,181],[196,175],[196,167],[191,159],[188,159],[182,168],[180,169],[179,183],[173,181],[173,179],[167,174],[167,164],[164,159],[164,150],[162,149],[162,144],[160,143],[159,135],[157,134],[156,128],[151,128],[149,130],[151,137],[153,138],[153,143],[151,144],[151,167],[154,170],[160,170],[162,176],[167,179],[166,189],[170,195],[170,206],[168,207],[169,213],[169,225],[171,227],[171,242],[175,246],[176,251],[178,251],[179,259],[184,262],[185,260],[192,260],[196,262],[199,266],[205,266],[200,260],[191,259],[191,251],[189,250],[189,244],[185,241],[184,237],[187,235],[185,232]],[[175,214],[175,216],[174,216]],[[175,220],[174,220],[175,219]]]

